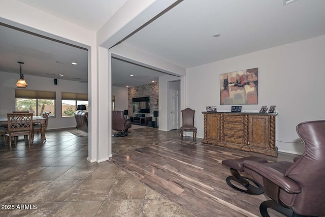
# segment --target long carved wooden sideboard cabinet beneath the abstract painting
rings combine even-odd
[[[202,143],[264,153],[276,157],[276,113],[202,112]]]

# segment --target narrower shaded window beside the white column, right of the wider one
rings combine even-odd
[[[88,111],[88,95],[62,92],[62,117],[74,117],[77,105],[85,105]]]

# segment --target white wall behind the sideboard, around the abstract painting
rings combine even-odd
[[[258,111],[276,105],[276,139],[279,151],[302,153],[296,133],[298,123],[325,119],[325,35],[262,51],[193,67],[186,71],[186,106],[195,109],[198,137],[203,138],[205,106],[220,106],[222,73],[258,67],[258,105],[243,105],[243,111]],[[196,87],[196,88],[194,88]],[[198,88],[199,87],[199,88]]]

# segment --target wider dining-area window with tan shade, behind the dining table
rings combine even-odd
[[[42,116],[49,111],[55,117],[55,92],[38,90],[15,90],[16,111],[28,111],[35,116]]]

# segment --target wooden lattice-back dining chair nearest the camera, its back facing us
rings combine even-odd
[[[24,136],[25,144],[30,147],[30,137],[32,131],[32,113],[8,113],[8,133],[6,133],[6,145],[12,149],[12,137],[17,145],[18,136]],[[28,137],[29,136],[29,137]]]

